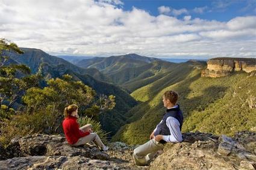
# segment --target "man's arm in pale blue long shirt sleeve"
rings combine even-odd
[[[170,135],[163,135],[163,140],[166,142],[181,142],[183,137],[181,135],[180,123],[173,117],[168,117],[166,125],[170,129]]]

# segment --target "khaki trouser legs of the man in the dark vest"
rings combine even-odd
[[[133,151],[133,157],[136,165],[149,165],[158,150],[163,149],[164,145],[151,139],[143,145],[140,145]]]

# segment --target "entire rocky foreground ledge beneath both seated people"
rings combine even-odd
[[[184,142],[166,144],[151,165],[137,167],[133,149],[122,142],[70,147],[63,136],[32,135],[0,147],[0,169],[255,169],[256,133],[239,132],[234,138],[210,133],[184,133]]]

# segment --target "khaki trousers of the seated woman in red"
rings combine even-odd
[[[92,129],[92,124],[86,124],[86,126],[80,127],[80,130],[84,131],[88,131],[89,129]],[[78,139],[78,141],[73,144],[73,146],[84,145],[90,142],[95,142],[95,144],[98,145],[98,147],[101,149],[105,147],[97,133],[90,133],[90,135]]]

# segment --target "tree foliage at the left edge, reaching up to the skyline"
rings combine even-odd
[[[36,86],[40,79],[39,74],[30,75],[30,68],[26,65],[4,65],[9,59],[7,55],[13,51],[23,53],[16,44],[0,39],[0,105],[4,101],[9,102],[6,112],[20,99],[25,90]]]

